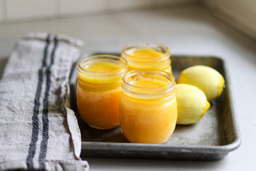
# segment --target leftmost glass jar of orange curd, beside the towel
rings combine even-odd
[[[77,107],[91,127],[119,126],[119,99],[127,62],[114,55],[95,55],[78,64]]]

